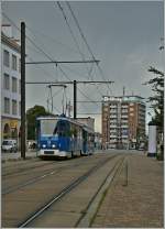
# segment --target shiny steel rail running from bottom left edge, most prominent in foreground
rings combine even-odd
[[[77,187],[80,183],[82,183],[85,179],[87,179],[92,173],[95,173],[97,170],[99,170],[101,166],[107,164],[110,160],[119,156],[112,155],[109,159],[102,160],[97,165],[91,167],[88,172],[86,172],[84,175],[79,176],[76,181],[70,183],[68,186],[66,186],[64,189],[62,189],[57,195],[55,195],[48,203],[46,203],[43,207],[37,209],[35,212],[33,212],[30,217],[28,217],[23,222],[18,225],[18,228],[23,228],[30,225],[35,218],[40,217],[47,208],[50,208],[53,204],[62,199],[66,194],[70,193],[75,187]]]

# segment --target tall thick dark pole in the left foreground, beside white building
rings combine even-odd
[[[25,23],[21,22],[21,157],[25,160]]]

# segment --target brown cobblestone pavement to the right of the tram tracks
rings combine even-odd
[[[91,227],[163,228],[163,162],[144,154],[129,155],[128,185],[125,167],[108,189]]]

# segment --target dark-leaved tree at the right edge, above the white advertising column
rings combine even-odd
[[[163,132],[164,127],[164,73],[157,70],[154,67],[150,67],[148,72],[156,75],[156,77],[150,79],[144,85],[152,86],[154,95],[148,97],[151,108],[154,109],[155,117],[153,121],[160,127],[160,131]]]

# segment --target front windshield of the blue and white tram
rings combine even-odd
[[[55,119],[41,120],[41,135],[42,137],[51,137],[54,134],[54,130],[57,126],[57,121]]]

